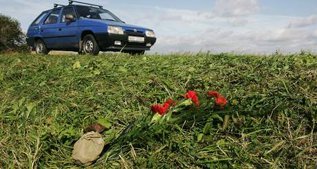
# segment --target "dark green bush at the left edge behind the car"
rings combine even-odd
[[[17,19],[0,14],[0,52],[30,52]]]

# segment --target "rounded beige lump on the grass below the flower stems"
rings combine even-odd
[[[99,132],[88,132],[74,144],[72,157],[76,163],[90,166],[99,158],[103,146],[105,146],[105,141],[103,141]]]

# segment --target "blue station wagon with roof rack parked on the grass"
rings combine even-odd
[[[102,6],[69,1],[68,6],[54,4],[42,12],[28,28],[26,40],[37,54],[50,50],[144,54],[156,37],[153,30],[129,25]]]

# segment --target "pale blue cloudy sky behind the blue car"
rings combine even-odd
[[[152,52],[317,53],[316,0],[83,0],[121,20],[155,31]],[[53,3],[66,0],[0,0],[0,12],[24,32]]]

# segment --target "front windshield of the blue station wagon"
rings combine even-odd
[[[79,18],[88,18],[88,19],[103,19],[109,21],[120,21],[118,17],[109,12],[108,10],[103,10],[101,8],[94,8],[90,6],[76,6],[77,13]]]

